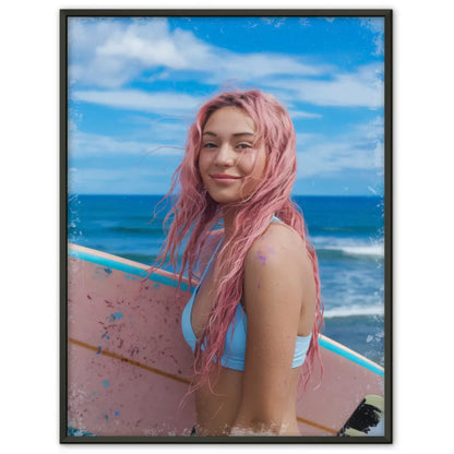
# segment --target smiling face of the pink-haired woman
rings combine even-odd
[[[202,131],[199,170],[212,199],[218,203],[248,198],[262,179],[263,147],[254,148],[255,124],[242,109],[214,111]]]

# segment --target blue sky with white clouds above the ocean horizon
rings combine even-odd
[[[259,87],[297,132],[294,194],[384,191],[383,17],[70,17],[69,192],[164,194],[201,105]]]

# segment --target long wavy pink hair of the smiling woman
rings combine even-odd
[[[223,107],[242,109],[254,121],[255,135],[266,154],[266,165],[263,178],[253,192],[244,200],[228,204],[228,210],[235,210],[236,213],[232,234],[219,249],[215,262],[214,304],[195,347],[194,374],[199,380],[193,390],[207,384],[213,392],[210,377],[215,368],[220,367],[227,330],[235,320],[242,296],[247,251],[264,234],[273,215],[301,236],[313,267],[316,309],[311,344],[301,367],[300,379],[304,389],[315,356],[323,371],[319,350],[319,332],[323,323],[319,265],[302,214],[290,200],[297,170],[294,124],[286,109],[272,95],[259,89],[229,91],[220,93],[201,107],[188,133],[184,157],[174,174],[170,191],[166,195],[172,198],[171,210],[165,219],[165,223],[170,219],[171,225],[154,266],[160,266],[166,259],[176,266],[179,248],[186,242],[179,284],[183,273],[188,272],[189,284],[192,285],[201,251],[219,225],[226,206],[215,202],[205,190],[198,163],[203,128],[210,116]],[[157,263],[159,264],[156,265]]]

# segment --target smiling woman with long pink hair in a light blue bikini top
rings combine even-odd
[[[160,259],[175,264],[188,238],[180,279],[202,272],[182,314],[196,435],[300,434],[299,377],[306,384],[319,354],[322,306],[315,252],[289,200],[296,168],[291,120],[258,89],[216,96],[189,131]]]

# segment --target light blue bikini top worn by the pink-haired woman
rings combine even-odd
[[[280,222],[280,219],[274,216],[272,222]],[[203,272],[202,278],[200,279],[199,285],[195,287],[195,290],[192,294],[191,299],[186,304],[186,308],[181,316],[181,328],[183,332],[183,336],[184,336],[186,342],[191,347],[192,351],[195,350],[195,344],[198,340],[192,330],[192,324],[191,324],[192,307],[194,306],[194,300],[199,291],[199,288],[222,242],[223,242],[223,238],[219,240],[213,255],[211,256],[210,262],[206,265],[205,271]],[[247,328],[248,328],[247,316],[246,316],[244,310],[242,309],[241,303],[239,302],[237,306],[235,320],[230,323],[227,330],[224,355],[220,358],[220,363],[225,368],[235,369],[235,370],[244,370]],[[234,335],[231,335],[232,330],[234,330]],[[298,368],[304,362],[306,354],[308,353],[311,337],[312,337],[312,333],[309,336],[297,336],[294,362],[291,365],[291,368],[294,369]],[[203,349],[203,345],[202,345],[202,349]]]

